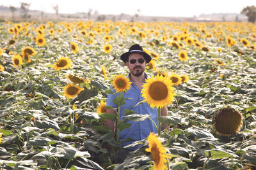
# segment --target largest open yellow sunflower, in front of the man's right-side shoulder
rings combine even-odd
[[[170,79],[156,75],[153,78],[148,78],[142,85],[142,96],[152,108],[163,108],[167,104],[171,104],[174,99],[175,92],[172,85]]]

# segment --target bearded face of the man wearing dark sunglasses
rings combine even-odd
[[[140,76],[145,71],[146,60],[140,53],[131,53],[129,60],[126,62],[126,66],[129,68],[132,75]]]

